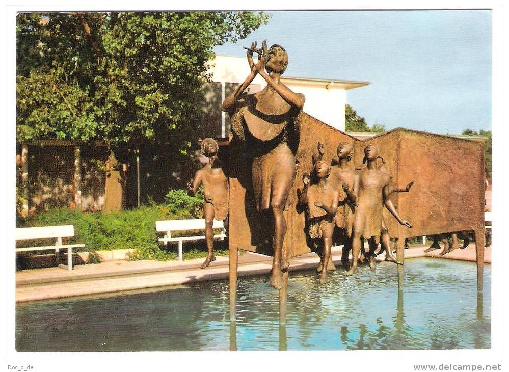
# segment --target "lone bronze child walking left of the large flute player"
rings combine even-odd
[[[201,184],[205,194],[203,203],[203,215],[205,217],[205,241],[207,243],[207,258],[201,265],[202,269],[208,267],[210,262],[215,261],[214,256],[214,220],[224,221],[228,229],[228,177],[223,172],[218,159],[219,146],[216,140],[205,138],[201,143],[203,154],[208,157],[208,163],[196,171],[193,183],[187,184],[187,193],[194,195]]]

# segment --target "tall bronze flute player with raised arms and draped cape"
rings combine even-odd
[[[231,118],[234,136],[246,144],[245,150],[251,156],[251,177],[256,209],[271,210],[274,227],[274,259],[271,271],[271,285],[283,288],[283,270],[288,261],[283,257],[282,246],[286,234],[286,220],[283,211],[295,177],[295,152],[299,128],[297,116],[301,112],[305,97],[294,93],[280,81],[288,65],[285,49],[274,44],[267,49],[256,49],[256,42],[247,51],[251,68],[244,83],[222,104]],[[253,52],[260,54],[256,65]],[[266,72],[265,72],[266,70]],[[255,94],[244,91],[260,74],[267,86]]]

